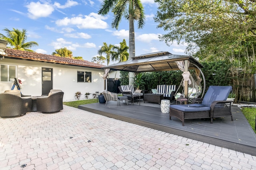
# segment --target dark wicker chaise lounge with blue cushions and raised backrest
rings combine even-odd
[[[170,119],[172,116],[182,121],[184,119],[210,118],[231,116],[231,102],[226,101],[232,86],[209,86],[203,99],[194,99],[194,102],[202,101],[202,104],[170,105]]]

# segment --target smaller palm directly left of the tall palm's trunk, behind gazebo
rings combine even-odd
[[[114,54],[112,55],[111,59],[112,61],[118,61],[123,62],[127,61],[129,58],[129,53],[127,52],[129,47],[126,45],[125,39],[123,39],[123,42],[120,43],[120,46],[114,46]]]

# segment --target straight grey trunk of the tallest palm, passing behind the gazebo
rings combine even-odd
[[[134,19],[129,14],[129,60],[135,57],[135,35],[134,35]],[[129,85],[134,84],[134,74],[129,72]]]

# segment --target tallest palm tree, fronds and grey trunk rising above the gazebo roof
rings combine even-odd
[[[110,10],[114,13],[114,19],[111,23],[112,28],[118,29],[123,15],[129,20],[129,59],[132,59],[132,57],[135,57],[134,20],[138,21],[138,28],[144,26],[144,8],[140,0],[104,0],[98,14],[104,16]]]

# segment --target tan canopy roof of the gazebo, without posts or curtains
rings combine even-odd
[[[167,51],[149,53],[133,57],[131,60],[102,67],[111,70],[122,70],[128,72],[152,72],[179,70],[175,61],[190,61],[188,69],[202,68],[203,66],[193,57],[186,55],[173,55]]]

